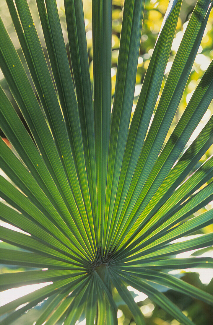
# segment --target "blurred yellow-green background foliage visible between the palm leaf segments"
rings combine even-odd
[[[180,45],[183,33],[186,29],[188,20],[190,18],[190,15],[193,11],[194,0],[183,0],[181,11],[180,11],[180,18],[178,20],[177,25],[177,31],[176,35],[172,44],[172,49],[170,53],[170,57],[168,60],[168,64],[166,66],[165,70],[165,77],[162,84],[162,89],[165,84],[166,77],[168,75],[168,72],[172,66],[172,62],[174,60],[174,57],[176,55],[177,49]],[[47,58],[48,62],[48,56],[47,51],[45,47],[44,37],[42,33],[42,28],[39,20],[39,16],[37,13],[37,7],[36,7],[36,1],[35,0],[28,0],[31,13],[34,19],[34,23],[37,29],[37,32],[39,34],[39,38],[41,40],[41,44],[44,49],[44,53]],[[89,57],[89,67],[90,67],[90,75],[91,75],[91,81],[93,82],[93,61],[92,61],[92,17],[91,17],[91,0],[83,0],[84,3],[84,13],[85,13],[85,27],[86,27],[86,33],[87,33],[87,46],[88,46],[88,57]],[[59,15],[64,35],[65,43],[67,44],[68,38],[67,38],[67,32],[66,32],[66,21],[65,21],[65,12],[64,12],[64,6],[63,6],[63,0],[57,0],[57,5],[59,9]],[[166,12],[166,8],[168,5],[168,0],[150,0],[146,1],[145,11],[144,11],[144,20],[143,20],[143,28],[142,28],[142,35],[141,35],[141,43],[140,43],[140,53],[139,53],[139,59],[138,59],[138,72],[137,72],[137,79],[136,79],[136,87],[135,87],[135,98],[134,98],[134,104],[132,108],[132,115],[134,113],[134,109],[137,103],[138,96],[140,94],[140,89],[143,83],[143,79],[146,73],[146,70],[148,68],[151,55],[153,53],[153,48],[157,39],[157,35],[160,31],[160,27]],[[124,6],[124,0],[113,0],[113,11],[112,11],[112,100],[113,100],[113,94],[114,94],[114,87],[115,87],[115,80],[116,80],[116,66],[117,66],[117,60],[118,60],[118,49],[119,49],[119,40],[120,40],[120,32],[121,32],[121,24],[122,24],[122,16],[123,16],[123,6]],[[15,45],[18,54],[20,56],[21,61],[23,62],[24,68],[29,76],[29,79],[31,80],[28,68],[26,63],[24,62],[23,53],[20,49],[20,44],[16,35],[16,32],[14,30],[9,11],[7,9],[7,5],[5,0],[0,1],[0,15],[5,23],[5,26],[7,28],[7,31],[9,32],[9,35],[13,41],[13,44]],[[68,50],[68,46],[67,46]],[[192,72],[190,74],[189,80],[187,82],[184,94],[182,96],[179,108],[177,110],[177,113],[173,119],[171,128],[167,134],[166,141],[168,137],[170,136],[172,130],[174,129],[176,123],[180,119],[180,116],[182,115],[186,105],[188,104],[193,91],[195,90],[196,86],[198,85],[200,79],[202,78],[204,72],[206,71],[210,61],[213,59],[213,10],[210,13],[210,17],[206,26],[206,30],[204,32],[204,37],[202,39],[201,45],[198,50],[198,54],[196,56]],[[32,86],[33,82],[31,80]],[[7,83],[4,79],[4,76],[0,70],[0,84],[3,87],[4,91],[7,93],[7,96],[11,99],[11,102],[13,103],[14,107],[17,109],[18,114],[20,115],[20,118],[22,119],[22,116],[20,114],[20,111],[16,105],[16,102],[14,98],[12,97],[9,88],[7,86]],[[37,97],[38,98],[38,97]],[[213,112],[213,103],[210,104],[208,110],[206,111],[202,121],[199,123],[195,131],[193,132],[193,135],[191,136],[186,148],[190,145],[190,143],[193,141],[193,139],[200,133],[204,125],[207,123],[208,119],[210,118],[211,114]],[[25,124],[26,125],[26,124]],[[26,125],[27,128],[27,125]],[[1,131],[1,130],[0,130]],[[1,132],[1,136],[4,137],[4,134]],[[7,139],[5,139],[7,141]],[[10,145],[9,143],[7,143]],[[186,149],[185,148],[185,149]],[[11,148],[13,149],[13,148]],[[213,153],[213,146],[210,147],[210,149],[206,152],[206,154],[201,158],[200,162],[194,167],[194,170],[197,169],[208,157],[210,157]],[[1,172],[1,171],[0,171]],[[3,174],[3,172],[1,172]],[[205,185],[204,185],[205,186]],[[1,199],[0,199],[1,200]],[[206,205],[204,208],[202,208],[199,212],[196,213],[200,214],[205,212],[206,210],[213,208],[213,201],[210,202],[208,205]],[[189,218],[193,217],[190,216]],[[0,223],[3,224],[3,222],[0,221]],[[4,226],[9,228],[15,228],[10,225],[6,225],[4,223]],[[17,229],[18,230],[18,229]],[[199,236],[201,233],[208,233],[213,231],[213,225],[207,226],[203,228],[202,230],[199,230],[192,234],[192,237]],[[0,242],[1,247],[9,248],[12,245],[6,244],[4,242]],[[13,249],[18,249],[17,247],[13,246]],[[208,249],[202,249],[200,251],[194,250],[191,252],[186,252],[179,254],[178,257],[188,257],[188,256],[211,256],[213,257],[213,248]],[[7,265],[3,265],[0,268],[0,272],[18,272],[23,271],[25,269],[30,268],[20,268],[20,267],[11,267]],[[167,270],[164,270],[166,272]],[[192,272],[189,272],[190,270],[174,270],[174,271],[168,271],[170,274],[173,274],[177,277],[181,277],[183,280],[195,285],[196,287],[199,287],[200,289],[206,291],[206,292],[213,292],[213,270],[210,269],[193,269]],[[34,291],[37,288],[40,288],[41,286],[44,286],[44,284],[33,284],[30,286],[25,286],[22,288],[15,288],[10,289],[8,291],[5,291],[1,295],[1,301],[0,304],[4,305],[10,300],[13,300],[15,298],[18,298],[21,295],[24,295],[28,292]],[[147,325],[178,325],[180,324],[177,320],[172,319],[166,311],[160,309],[158,306],[154,305],[152,301],[149,300],[149,298],[140,292],[137,292],[137,290],[134,290],[131,287],[128,287],[130,292],[132,292],[133,297],[136,302],[138,302],[141,311],[143,315],[146,318]],[[195,300],[191,297],[179,294],[177,292],[173,292],[172,290],[167,290],[165,287],[161,287],[160,289],[162,292],[164,292],[174,303],[176,303],[181,310],[184,311],[184,313],[191,318],[196,325],[212,325],[213,324],[213,309],[209,305]],[[48,298],[53,299],[54,296]],[[128,309],[128,307],[125,305],[125,303],[121,300],[119,295],[117,294],[116,290],[114,289],[114,298],[116,301],[116,304],[118,306],[118,320],[119,325],[135,325],[135,322],[132,320],[131,313]],[[21,318],[19,318],[16,322],[14,322],[14,325],[31,325],[34,324],[34,319],[36,319],[41,311],[45,308],[45,301],[38,304],[36,307],[34,307],[32,310],[30,310],[26,315],[23,315]],[[59,320],[57,324],[63,323],[63,317]],[[84,315],[82,315],[82,319],[79,320],[79,325],[85,324],[84,322]]]

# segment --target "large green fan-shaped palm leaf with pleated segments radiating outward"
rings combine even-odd
[[[163,270],[213,267],[212,258],[175,258],[213,243],[213,233],[176,241],[212,223],[213,117],[186,147],[213,98],[213,62],[164,145],[197,54],[213,2],[198,0],[154,113],[180,13],[171,0],[130,123],[144,0],[125,0],[111,112],[111,0],[92,0],[92,94],[82,0],[64,0],[72,67],[55,0],[36,0],[54,83],[26,0],[6,0],[37,97],[0,20],[0,67],[29,133],[0,88],[2,263],[27,270],[0,275],[1,289],[51,284],[0,307],[11,324],[47,298],[36,325],[117,324],[113,290],[136,324],[145,324],[126,286],[147,294],[183,324],[193,324],[155,284],[213,305],[213,296]],[[151,125],[150,125],[151,124]],[[150,125],[150,127],[149,127]],[[186,178],[190,175],[188,178]],[[46,268],[46,270],[42,270]],[[161,271],[162,270],[162,271]],[[113,287],[113,290],[112,290]]]

